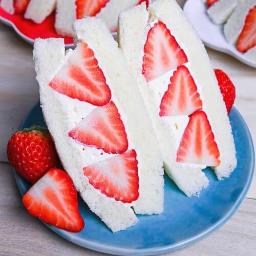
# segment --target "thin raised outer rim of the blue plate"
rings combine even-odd
[[[30,111],[26,114],[23,121],[19,125],[19,129],[22,129],[24,127],[28,117],[31,115],[31,113],[36,108],[38,108],[38,105],[40,107],[39,101],[37,101],[34,104],[34,106],[30,109]],[[76,233],[61,230],[61,229],[58,229],[57,227],[54,227],[52,225],[49,225],[49,224],[43,222],[43,221],[42,222],[46,226],[48,226],[51,230],[53,230],[55,233],[57,233],[60,237],[66,239],[69,242],[72,242],[76,245],[79,245],[81,247],[91,249],[94,251],[98,251],[98,252],[102,252],[102,253],[110,253],[110,254],[115,254],[115,255],[154,255],[154,254],[160,254],[160,253],[167,253],[167,252],[179,250],[181,248],[184,248],[186,246],[194,244],[194,243],[202,240],[203,238],[209,236],[212,232],[214,232],[215,230],[217,230],[221,226],[223,226],[237,211],[237,209],[239,208],[239,206],[245,199],[245,196],[250,187],[250,184],[251,184],[252,178],[253,178],[253,174],[254,174],[255,153],[254,153],[254,146],[253,146],[253,141],[252,141],[252,137],[251,137],[249,128],[248,128],[245,120],[243,119],[242,115],[239,113],[239,111],[234,106],[232,107],[230,113],[232,113],[233,115],[236,115],[239,119],[242,120],[243,131],[245,132],[246,137],[249,142],[249,147],[250,147],[249,151],[251,152],[252,158],[250,161],[250,165],[248,166],[248,178],[247,178],[247,182],[246,182],[245,186],[243,187],[241,194],[239,195],[236,202],[232,205],[232,207],[229,208],[229,210],[226,212],[226,214],[218,222],[215,222],[209,228],[205,229],[203,232],[199,232],[196,234],[196,236],[193,236],[189,239],[185,239],[185,240],[182,240],[182,241],[179,241],[177,243],[167,245],[167,246],[153,247],[153,248],[140,248],[140,249],[137,249],[137,248],[122,249],[120,247],[113,247],[113,246],[109,246],[109,245],[105,245],[105,244],[102,245],[99,242],[92,242],[92,241],[81,239],[81,238],[75,236]],[[17,172],[15,172],[15,170],[13,170],[13,172],[14,172],[15,180],[16,180],[17,186],[19,188],[19,191],[23,195],[22,180],[20,179],[20,176],[17,174]]]

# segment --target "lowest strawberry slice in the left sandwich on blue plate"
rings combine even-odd
[[[138,161],[135,150],[83,168],[90,184],[107,197],[131,203],[139,197]]]

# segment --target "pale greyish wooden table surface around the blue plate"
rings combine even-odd
[[[181,5],[184,0],[178,1]],[[17,128],[38,101],[38,84],[32,45],[8,26],[0,24],[0,254],[4,255],[102,255],[70,243],[39,220],[22,204],[6,145],[12,127]],[[212,67],[223,69],[236,86],[234,106],[242,114],[256,142],[256,69],[226,54],[208,49]],[[256,178],[237,212],[220,229],[200,242],[165,255],[255,255]]]

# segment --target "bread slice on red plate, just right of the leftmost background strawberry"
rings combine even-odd
[[[34,23],[42,23],[55,9],[56,2],[57,0],[30,0],[24,17]]]

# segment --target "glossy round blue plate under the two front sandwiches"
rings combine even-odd
[[[86,227],[79,233],[60,230],[46,224],[59,236],[80,246],[119,255],[151,255],[183,248],[206,237],[221,227],[238,209],[246,196],[254,170],[252,139],[239,112],[232,108],[229,114],[237,148],[238,166],[228,179],[218,181],[206,168],[209,186],[200,197],[186,197],[165,176],[164,212],[161,215],[138,216],[139,223],[112,233],[79,198],[79,210]],[[39,103],[29,112],[20,128],[39,122],[45,125]],[[16,172],[19,190],[26,193],[29,183]]]

